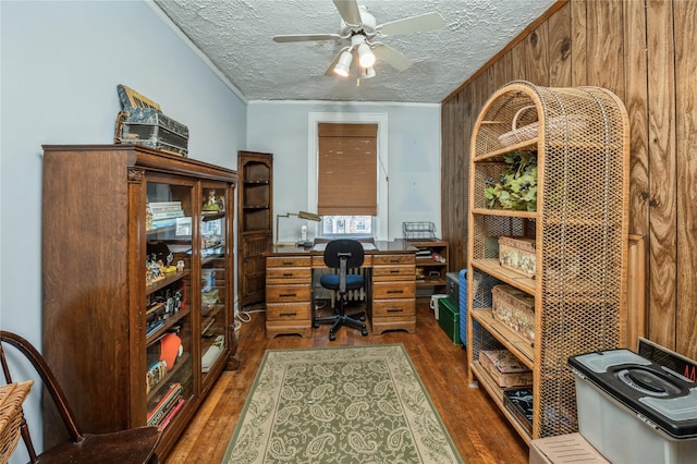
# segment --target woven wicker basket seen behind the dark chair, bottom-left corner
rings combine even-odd
[[[22,402],[32,389],[32,380],[0,387],[0,463],[7,463],[20,441]]]

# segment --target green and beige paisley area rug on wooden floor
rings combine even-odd
[[[268,350],[224,464],[462,463],[402,344]]]

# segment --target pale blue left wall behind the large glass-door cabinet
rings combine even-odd
[[[236,169],[246,105],[140,1],[3,0],[0,29],[0,327],[40,349],[41,144],[112,143],[124,84],[188,125],[192,158]],[[40,449],[38,394],[25,412]]]

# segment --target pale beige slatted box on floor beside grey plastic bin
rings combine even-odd
[[[530,442],[529,464],[610,464],[580,434],[559,435]]]

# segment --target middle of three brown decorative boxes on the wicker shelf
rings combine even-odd
[[[530,341],[535,340],[535,297],[511,285],[491,289],[493,318]]]

